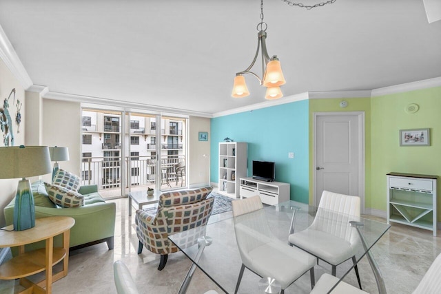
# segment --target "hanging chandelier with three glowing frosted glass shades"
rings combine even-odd
[[[252,63],[249,65],[249,67],[247,67],[246,70],[236,73],[236,77],[234,78],[233,91],[232,91],[232,96],[234,98],[242,98],[249,96],[249,91],[247,88],[247,84],[245,83],[245,77],[243,76],[243,74],[251,74],[252,76],[255,76],[258,79],[260,85],[267,87],[267,93],[265,94],[265,99],[278,99],[283,97],[282,91],[280,90],[280,86],[284,85],[286,81],[285,78],[283,77],[282,67],[280,66],[280,61],[278,61],[277,56],[274,55],[271,58],[269,58],[267,52],[267,45],[265,43],[265,39],[267,39],[266,30],[267,30],[267,23],[263,21],[263,0],[260,0],[260,23],[258,23],[257,25],[258,43],[257,43],[256,55],[254,56]],[[254,66],[254,63],[256,63],[259,51],[262,52],[261,59],[262,59],[263,78],[260,78],[257,74],[250,71]]]

